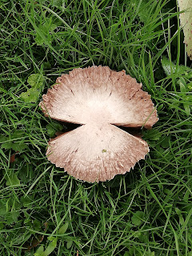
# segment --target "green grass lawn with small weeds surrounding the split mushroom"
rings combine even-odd
[[[0,254],[191,256],[192,75],[176,1],[2,0],[0,12]],[[47,161],[69,126],[38,107],[60,74],[93,64],[142,82],[159,116],[146,160],[98,184]]]

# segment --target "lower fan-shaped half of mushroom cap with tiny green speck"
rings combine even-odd
[[[86,182],[106,181],[125,174],[149,152],[142,138],[110,124],[79,126],[50,140],[50,162]]]

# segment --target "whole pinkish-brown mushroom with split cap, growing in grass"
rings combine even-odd
[[[117,126],[151,128],[157,111],[142,84],[108,66],[62,74],[42,96],[46,116],[80,124],[50,139],[46,155],[74,178],[106,181],[125,174],[149,152],[147,143]]]

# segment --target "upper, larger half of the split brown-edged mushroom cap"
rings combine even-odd
[[[108,66],[91,66],[62,74],[40,103],[46,116],[63,122],[111,123],[146,128],[158,121],[142,84]]]

